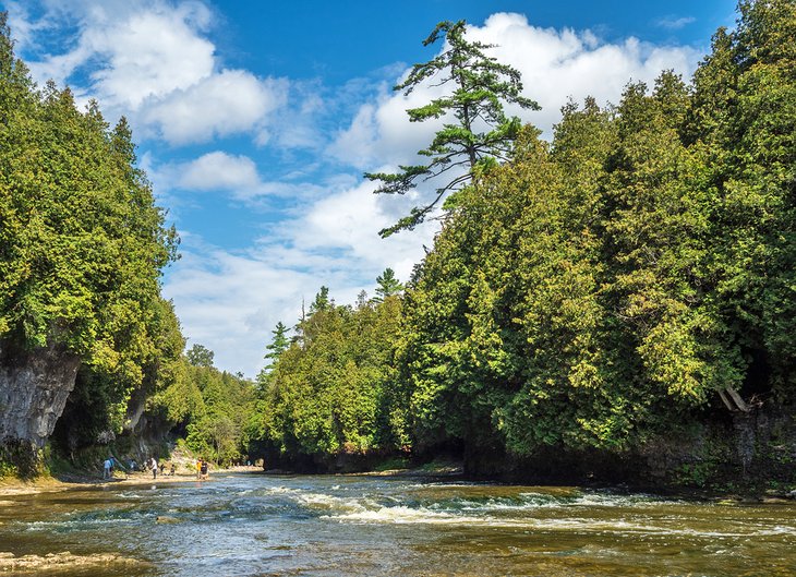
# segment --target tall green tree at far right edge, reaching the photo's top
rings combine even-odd
[[[695,73],[689,134],[705,149],[715,206],[712,300],[740,375],[727,384],[741,395],[788,398],[796,388],[796,4],[738,9],[737,28],[719,29]],[[748,408],[727,395],[728,407]]]

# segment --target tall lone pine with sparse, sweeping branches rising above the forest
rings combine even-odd
[[[394,87],[411,94],[417,87],[433,82],[433,86],[451,85],[453,92],[434,98],[425,106],[407,110],[411,122],[425,122],[445,118],[427,148],[418,154],[427,157],[427,164],[400,166],[400,172],[367,172],[365,178],[381,181],[376,193],[406,194],[419,182],[442,179],[435,197],[427,204],[415,206],[408,216],[399,219],[379,235],[388,237],[403,229],[413,229],[422,223],[446,193],[460,190],[469,183],[480,165],[507,160],[521,123],[517,117],[507,117],[504,103],[521,108],[539,110],[539,105],[520,95],[520,73],[497,62],[484,51],[494,45],[465,38],[466,22],[441,22],[423,41],[429,46],[439,39],[447,41],[443,53],[429,62],[414,64],[407,80]]]

